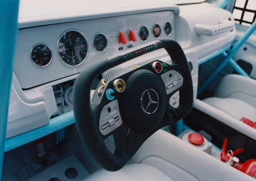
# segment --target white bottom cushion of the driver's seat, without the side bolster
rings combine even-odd
[[[100,169],[95,171],[83,181],[173,181],[161,170],[146,164],[129,164],[118,171],[106,171]]]

